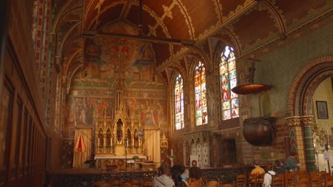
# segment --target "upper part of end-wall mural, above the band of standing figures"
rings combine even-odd
[[[137,32],[132,26],[122,22],[108,24],[103,30],[125,34]],[[141,88],[142,82],[156,86],[157,82],[152,74],[154,52],[149,42],[97,37],[90,40],[87,49],[85,67],[75,73],[72,86],[112,87],[115,77],[121,77],[134,89]]]

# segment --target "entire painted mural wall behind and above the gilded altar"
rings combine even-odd
[[[122,22],[107,25],[103,32],[137,33]],[[148,42],[94,38],[85,51],[84,64],[75,73],[66,99],[65,137],[70,137],[75,125],[90,128],[98,116],[113,118],[117,91],[122,93],[126,116],[139,118],[143,128],[166,129],[166,85],[154,74],[154,52]]]

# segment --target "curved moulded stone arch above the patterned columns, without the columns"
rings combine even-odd
[[[289,115],[312,115],[312,96],[320,82],[333,76],[333,55],[317,57],[300,69],[290,86]]]

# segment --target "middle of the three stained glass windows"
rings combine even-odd
[[[194,73],[196,125],[208,123],[207,97],[206,97],[206,69],[203,63],[199,62]]]

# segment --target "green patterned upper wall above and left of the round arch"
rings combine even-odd
[[[273,85],[273,89],[268,91],[273,114],[285,115],[290,85],[300,69],[317,57],[332,55],[332,30],[333,23],[329,23],[312,33],[288,35],[287,39],[282,41],[284,46],[257,57],[261,62],[255,64],[255,82]],[[252,95],[250,99],[254,107],[253,116],[260,115],[257,107],[259,97]]]

